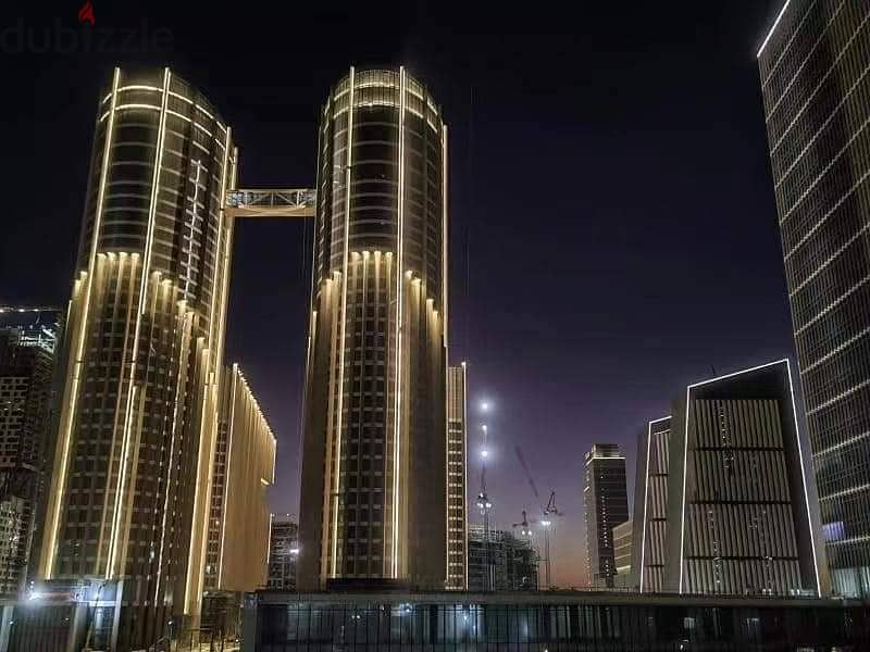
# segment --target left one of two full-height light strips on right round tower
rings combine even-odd
[[[341,335],[338,349],[338,426],[335,430],[335,505],[333,507],[333,577],[338,573],[338,509],[340,506],[339,491],[341,489],[341,428],[344,427],[345,409],[345,338],[347,337],[347,287],[348,287],[348,255],[350,251],[350,168],[353,164],[353,84],[355,70],[350,66],[348,78],[350,88],[348,90],[347,109],[347,153],[345,154],[345,238],[344,252],[341,254]],[[316,236],[315,236],[316,237]]]

